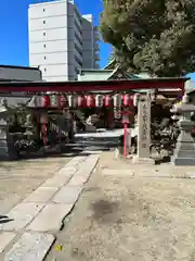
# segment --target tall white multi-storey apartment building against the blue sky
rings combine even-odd
[[[30,4],[29,64],[43,80],[75,80],[80,69],[99,69],[99,29],[72,0]]]

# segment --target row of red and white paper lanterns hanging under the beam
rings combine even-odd
[[[44,95],[35,97],[37,108],[101,108],[135,107],[134,95]]]

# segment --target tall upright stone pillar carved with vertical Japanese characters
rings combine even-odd
[[[141,95],[138,103],[138,154],[134,163],[154,163],[151,152],[151,95]]]

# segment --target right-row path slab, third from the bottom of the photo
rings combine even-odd
[[[54,196],[52,201],[55,203],[74,204],[81,191],[82,187],[64,186]]]

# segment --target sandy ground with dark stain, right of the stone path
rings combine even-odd
[[[102,153],[47,261],[194,261],[195,179],[102,174],[115,165]]]

